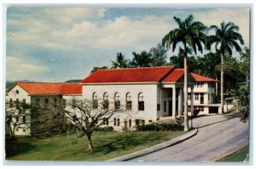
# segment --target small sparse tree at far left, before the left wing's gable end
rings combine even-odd
[[[30,110],[31,105],[15,101],[6,102],[5,104],[5,124],[9,130],[9,135],[15,137],[17,127],[28,129],[30,127]]]

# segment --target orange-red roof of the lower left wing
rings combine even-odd
[[[16,82],[30,94],[82,94],[79,83]]]

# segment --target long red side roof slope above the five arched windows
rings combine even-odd
[[[174,66],[96,70],[81,83],[160,82]]]

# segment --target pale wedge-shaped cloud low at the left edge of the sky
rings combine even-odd
[[[17,59],[12,56],[6,57],[7,80],[24,80],[30,76],[39,76],[40,74],[49,73],[46,67],[26,63],[25,60]]]

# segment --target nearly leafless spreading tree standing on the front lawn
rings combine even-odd
[[[82,136],[86,135],[88,150],[92,151],[94,149],[91,139],[92,133],[99,127],[107,124],[114,113],[122,112],[121,109],[116,110],[111,105],[108,103],[108,106],[106,106],[104,101],[90,101],[74,97],[73,99],[67,100],[65,106],[63,104],[49,106],[48,112],[58,112],[60,115],[64,115],[68,123],[82,132]]]

